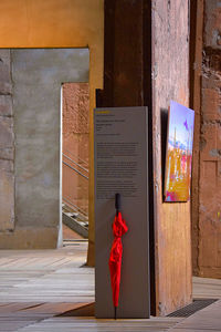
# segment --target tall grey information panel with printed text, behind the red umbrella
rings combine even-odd
[[[96,108],[95,148],[95,314],[114,318],[108,259],[114,240],[115,194],[128,226],[117,318],[149,317],[147,107]]]

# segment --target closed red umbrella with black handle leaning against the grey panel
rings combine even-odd
[[[115,319],[116,319],[116,309],[118,307],[120,270],[122,270],[122,253],[123,253],[122,236],[128,230],[127,225],[125,220],[122,218],[122,214],[119,211],[120,208],[119,194],[116,194],[115,196],[115,207],[116,207],[116,215],[113,222],[114,241],[112,245],[112,250],[109,256],[109,271],[110,271],[113,302],[115,307]]]

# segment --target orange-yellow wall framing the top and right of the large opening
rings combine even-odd
[[[88,46],[91,128],[93,128],[92,111],[95,107],[95,89],[102,89],[103,86],[103,11],[104,0],[0,1],[0,48]],[[93,134],[92,131],[90,132],[90,164],[93,174]],[[93,179],[91,178],[90,248],[92,248],[92,250],[90,250],[88,262],[93,262],[94,257],[93,193]],[[3,195],[6,195],[6,191]],[[13,197],[13,195],[11,197]],[[12,199],[10,198],[10,194],[9,199]],[[4,200],[7,201],[7,199]],[[31,229],[30,232],[32,232]],[[39,243],[44,241],[44,239],[41,238],[41,232],[39,235],[38,231],[33,230],[32,236],[38,238]],[[0,235],[0,238],[1,237],[4,238],[4,235]],[[21,242],[25,237],[25,232],[21,234]],[[14,247],[18,246],[19,240],[18,243],[15,243],[14,240]]]

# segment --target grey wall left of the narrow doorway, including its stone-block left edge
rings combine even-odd
[[[0,248],[56,248],[62,245],[61,86],[88,81],[88,49],[1,54]]]

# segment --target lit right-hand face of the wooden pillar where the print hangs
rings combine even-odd
[[[151,6],[156,309],[165,315],[191,301],[190,204],[162,200],[160,132],[170,100],[189,106],[189,1]]]

